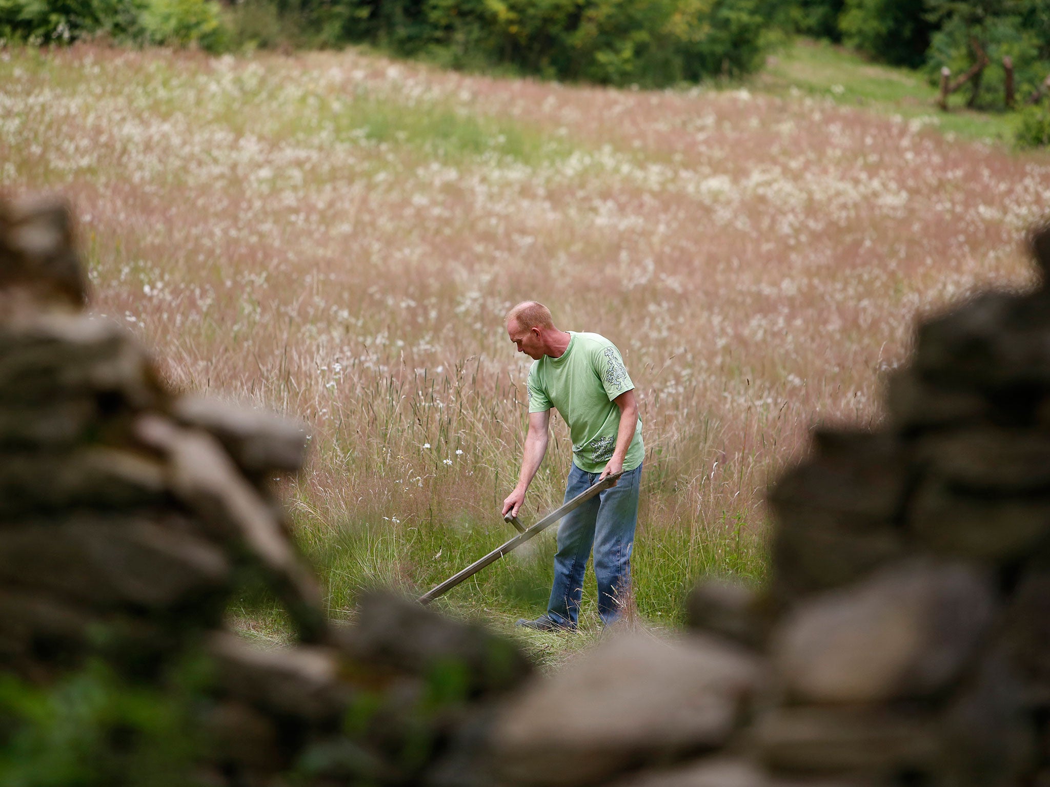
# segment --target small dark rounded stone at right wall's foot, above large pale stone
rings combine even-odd
[[[768,621],[761,598],[746,582],[705,579],[686,598],[686,624],[759,647],[765,640]]]

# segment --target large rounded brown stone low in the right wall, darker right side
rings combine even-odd
[[[804,599],[779,623],[772,659],[803,703],[877,703],[944,690],[993,620],[989,576],[908,559]]]

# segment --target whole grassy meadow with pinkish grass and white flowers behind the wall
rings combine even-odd
[[[646,434],[635,615],[673,625],[698,577],[763,576],[768,484],[814,423],[880,418],[917,314],[1030,281],[1018,239],[1050,207],[1046,154],[849,106],[868,66],[830,92],[826,54],[793,51],[747,89],[649,93],[353,51],[0,49],[0,189],[68,195],[97,309],[174,384],[309,422],[278,484],[340,618],[512,534],[527,359],[505,310],[608,336]],[[526,524],[569,461],[555,419]],[[439,605],[509,632],[552,549]],[[588,578],[579,634],[523,641],[590,641],[593,598]],[[286,636],[257,593],[231,616]]]

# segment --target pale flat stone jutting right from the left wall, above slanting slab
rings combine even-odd
[[[299,421],[203,397],[177,400],[173,412],[183,425],[218,438],[246,472],[294,472],[302,467],[309,432]]]

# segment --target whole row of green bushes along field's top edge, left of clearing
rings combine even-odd
[[[772,0],[0,0],[0,37],[218,50],[369,43],[456,68],[656,87],[762,60]]]

